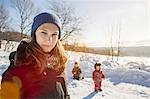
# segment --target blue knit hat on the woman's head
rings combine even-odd
[[[40,13],[34,17],[33,24],[32,24],[32,30],[31,30],[31,37],[33,36],[33,34],[37,30],[37,28],[44,23],[55,24],[59,28],[59,37],[58,38],[60,39],[60,37],[61,37],[61,21],[56,15],[50,14],[50,13]]]

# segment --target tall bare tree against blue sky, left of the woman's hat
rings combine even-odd
[[[34,4],[31,0],[12,0],[12,7],[18,13],[18,22],[21,33],[21,39],[23,38],[23,33],[27,34],[31,27],[31,17],[35,13]]]

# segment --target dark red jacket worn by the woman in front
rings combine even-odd
[[[19,82],[19,86],[21,86],[19,88],[21,99],[64,99],[63,93],[61,93],[62,88],[59,88],[60,84],[57,83],[58,75],[56,71],[48,68],[41,74],[37,74],[34,71],[35,68],[33,66],[25,65],[8,68],[3,76],[2,84],[8,81]]]

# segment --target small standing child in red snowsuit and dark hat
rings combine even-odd
[[[105,78],[100,66],[101,66],[100,63],[96,63],[94,65],[95,70],[93,71],[92,75],[95,84],[95,92],[102,91],[101,89],[102,78]]]

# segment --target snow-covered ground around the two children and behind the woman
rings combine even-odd
[[[9,53],[0,49],[0,75],[9,65]],[[67,55],[66,76],[71,99],[150,99],[150,58],[121,57],[118,61],[110,61],[110,57],[102,55],[75,52],[67,52]],[[72,79],[75,61],[80,63],[85,77],[81,81]],[[103,91],[99,93],[94,92],[91,79],[95,62],[102,63],[106,76]]]

